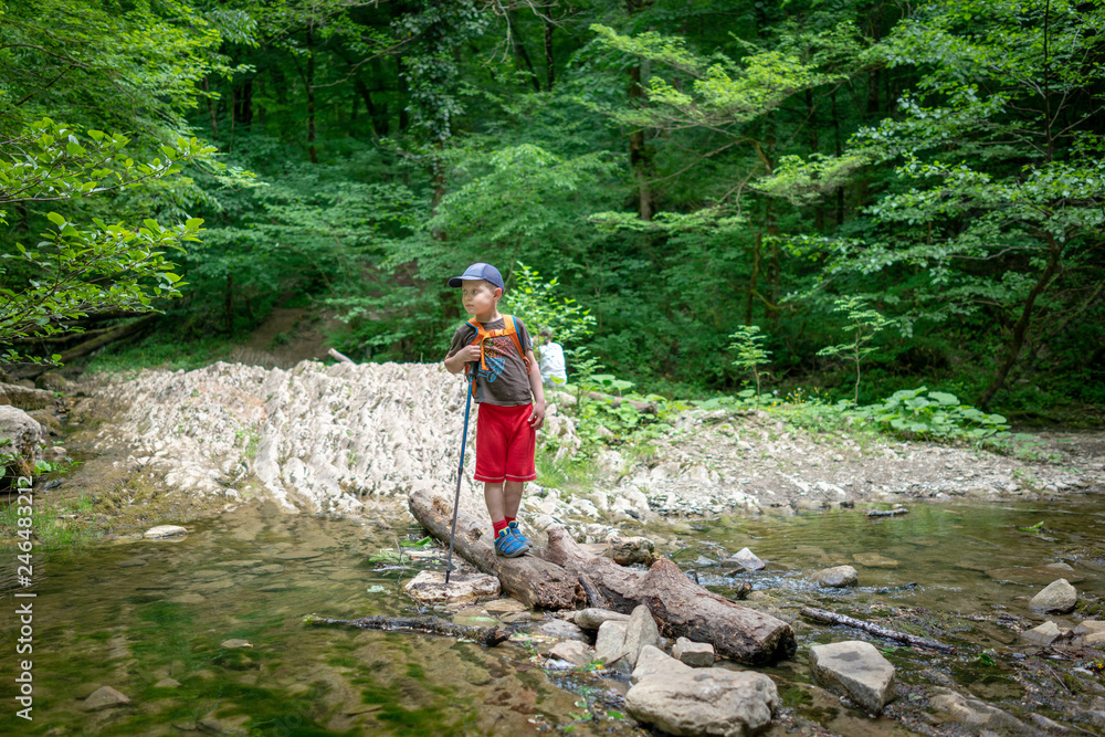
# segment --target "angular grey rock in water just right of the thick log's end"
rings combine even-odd
[[[810,647],[813,680],[872,714],[894,698],[894,666],[870,642],[834,642]]]

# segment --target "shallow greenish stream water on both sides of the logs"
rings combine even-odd
[[[1039,522],[1042,531],[1018,529]],[[178,541],[101,545],[40,558],[29,589],[17,588],[14,562],[0,571],[6,592],[0,624],[11,654],[3,660],[33,659],[34,688],[34,719],[24,722],[14,715],[13,681],[3,678],[0,734],[188,735],[238,728],[260,735],[513,735],[546,725],[576,726],[573,734],[641,734],[617,714],[578,722],[590,708],[617,709],[619,688],[591,674],[546,673],[525,641],[488,650],[445,638],[303,623],[308,613],[412,613],[399,589],[412,571],[379,571],[368,558],[396,548],[400,538],[419,536],[417,527],[266,514],[252,506],[188,527],[188,537]],[[1009,630],[953,614],[1008,611],[1042,621],[1029,612],[1028,599],[1048,581],[1002,582],[1008,573],[994,578],[986,571],[1050,564],[1062,549],[1099,544],[1105,496],[1021,506],[913,505],[908,515],[881,519],[855,509],[696,527],[690,535],[666,527],[656,534],[680,539],[662,552],[694,569],[703,585],[724,592],[749,581],[754,589],[804,593],[825,609],[851,613],[932,610],[929,620],[946,623],[938,639],[962,653],[948,659],[892,652],[905,693],[911,680],[927,682],[926,672],[936,667],[1000,702],[1015,699],[1020,687],[971,663],[983,651],[1027,649]],[[746,546],[769,561],[769,570],[735,572],[738,567],[727,559]],[[14,552],[4,559],[13,561]],[[844,562],[860,571],[860,587],[814,591],[804,582],[812,571]],[[1080,593],[1105,598],[1102,567],[1073,565],[1071,580],[1080,579]],[[15,591],[38,594],[31,600],[32,655],[14,654],[13,612],[28,601],[15,599]],[[229,639],[252,646],[222,646]],[[871,720],[839,703],[796,695],[808,683],[806,647],[843,639],[856,633],[800,627],[797,661],[767,672],[789,694],[788,704],[834,731],[903,731],[893,719]],[[82,712],[81,699],[101,685],[123,692],[130,704]]]

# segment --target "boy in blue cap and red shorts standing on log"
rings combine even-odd
[[[516,558],[533,545],[516,517],[527,481],[537,478],[534,452],[545,423],[545,389],[533,343],[522,320],[502,315],[503,276],[491,264],[475,263],[449,280],[461,287],[464,310],[472,315],[456,329],[445,356],[450,373],[476,370],[476,471],[484,482],[484,503],[495,533],[495,551]],[[476,327],[478,325],[478,327]]]

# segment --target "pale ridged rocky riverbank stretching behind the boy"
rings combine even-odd
[[[464,386],[438,365],[214,364],[104,377],[70,391],[71,451],[109,459],[116,476],[141,474],[192,504],[266,498],[290,513],[402,514],[410,492],[455,483]],[[473,435],[470,428],[470,449]],[[541,435],[556,439],[560,455],[578,446],[556,402]],[[766,411],[690,410],[645,453],[601,453],[591,488],[530,485],[525,512],[539,526],[560,522],[601,539],[604,527],[652,515],[1040,499],[1105,480],[1101,434],[1041,435],[1030,449],[999,455],[815,433]],[[467,460],[462,499],[478,510],[482,489]]]

